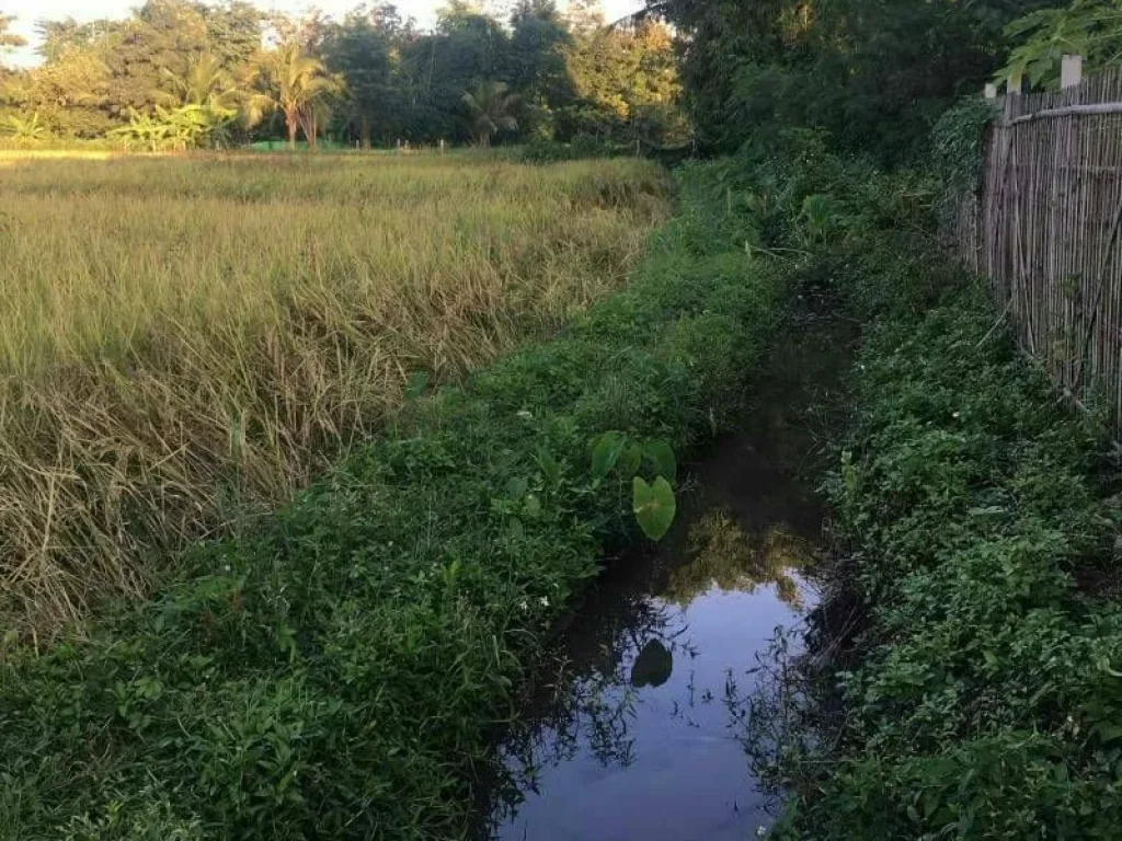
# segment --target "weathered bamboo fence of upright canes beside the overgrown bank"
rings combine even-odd
[[[951,220],[1024,352],[1122,429],[1122,68],[1006,95]]]

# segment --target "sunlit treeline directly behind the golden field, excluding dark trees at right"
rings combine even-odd
[[[0,45],[18,46],[10,20]],[[33,142],[688,140],[670,30],[606,27],[583,2],[500,16],[452,0],[423,30],[390,4],[294,20],[243,0],[147,0],[123,20],[37,27],[40,66],[0,70],[0,123]]]

